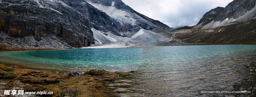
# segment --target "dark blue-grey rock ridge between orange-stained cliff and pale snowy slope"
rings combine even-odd
[[[124,35],[120,34],[120,26],[122,25],[119,22],[86,1],[63,0],[63,2],[78,11],[80,15],[85,16],[86,19],[81,21],[84,21],[84,25],[90,27],[90,29],[94,28],[103,32],[111,32],[114,35],[124,37]]]

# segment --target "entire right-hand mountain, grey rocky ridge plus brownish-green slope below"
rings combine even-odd
[[[255,0],[234,0],[207,12],[197,25],[177,30],[172,39],[180,42],[256,45]]]

